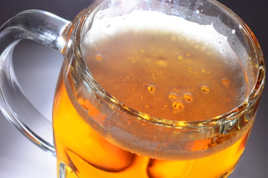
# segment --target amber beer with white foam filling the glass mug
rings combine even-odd
[[[230,132],[183,136],[183,126],[149,121],[201,122],[227,113],[248,97],[245,68],[213,25],[139,13],[95,21],[82,39],[94,80],[125,110],[72,82],[72,70],[61,73],[68,77],[59,80],[54,103],[58,164],[66,164],[68,178],[227,177],[245,149],[251,122],[233,124]],[[133,110],[141,117],[128,120]]]

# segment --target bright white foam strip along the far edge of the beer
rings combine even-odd
[[[131,32],[150,32],[157,35],[178,34],[179,36],[205,45],[215,53],[221,53],[223,58],[232,61],[236,54],[227,41],[227,37],[219,34],[210,25],[200,25],[187,21],[181,17],[170,16],[155,11],[134,11],[116,17],[103,18],[105,11],[96,14],[90,30],[84,35],[82,40],[82,52],[86,54],[86,49],[92,47],[100,40],[108,40],[111,36]],[[108,13],[108,12],[107,12]],[[229,63],[231,62],[229,61]],[[235,61],[232,61],[235,62]]]

